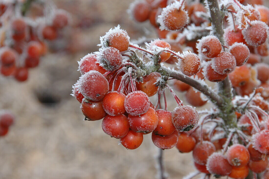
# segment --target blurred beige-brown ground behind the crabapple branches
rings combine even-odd
[[[53,2],[72,16],[62,38],[49,43],[52,50],[26,82],[0,76],[0,109],[16,117],[0,138],[0,178],[155,178],[158,149],[151,134],[138,149],[126,150],[102,131],[102,120],[83,121],[80,104],[70,95],[80,76],[77,61],[98,51],[100,36],[110,28],[121,24],[132,40],[145,34],[156,38],[155,30],[148,21],[130,19],[126,10],[132,0]],[[167,97],[173,110],[176,103]],[[191,155],[176,148],[164,151],[169,178],[194,171]]]

